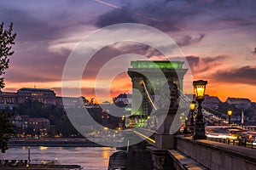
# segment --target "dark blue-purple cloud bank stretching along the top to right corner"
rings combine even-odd
[[[124,2],[122,8],[102,14],[96,26],[132,22],[154,26],[161,31],[216,30],[234,26],[252,26],[255,23],[250,1],[139,1]],[[243,11],[237,13],[237,11]]]

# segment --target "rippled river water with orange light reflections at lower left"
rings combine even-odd
[[[108,169],[109,156],[115,148],[109,147],[30,147],[32,161],[56,161],[60,164],[75,164],[86,170]],[[27,160],[28,147],[11,147],[0,152],[0,160]],[[38,162],[39,162],[38,161]]]

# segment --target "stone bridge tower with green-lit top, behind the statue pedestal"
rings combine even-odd
[[[182,92],[183,77],[187,71],[188,69],[183,69],[183,61],[131,61],[131,68],[128,69],[132,82],[130,127],[143,126],[150,112],[157,110],[152,96],[160,93],[166,82],[176,84]]]

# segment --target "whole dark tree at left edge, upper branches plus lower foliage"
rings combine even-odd
[[[0,25],[0,76],[9,68],[9,56],[14,54],[11,50],[15,44],[16,33],[13,33],[13,23],[10,23],[9,28],[4,30],[3,22]],[[3,77],[0,77],[0,89],[4,88]],[[4,111],[0,113],[0,150],[4,153],[8,150],[7,142],[10,136],[14,133],[14,126],[9,122],[11,114],[6,114]]]

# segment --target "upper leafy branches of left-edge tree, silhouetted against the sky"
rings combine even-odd
[[[0,25],[0,76],[9,68],[9,56],[15,52],[11,50],[15,44],[16,33],[13,33],[13,23],[10,23],[9,29],[3,29],[3,22]],[[3,77],[0,78],[0,88],[4,88]]]

